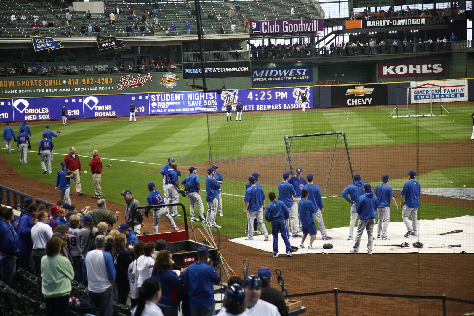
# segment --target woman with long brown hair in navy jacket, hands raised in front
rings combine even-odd
[[[169,250],[161,250],[156,256],[152,278],[160,281],[163,295],[157,305],[164,315],[178,315],[179,297],[186,268],[181,268],[178,277],[173,271],[173,259]]]

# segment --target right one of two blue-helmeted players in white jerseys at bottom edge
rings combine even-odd
[[[278,308],[260,299],[262,282],[256,275],[249,275],[244,280],[245,306],[247,315],[280,316]]]

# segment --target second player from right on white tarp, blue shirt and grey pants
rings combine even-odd
[[[393,194],[392,187],[388,184],[390,177],[388,174],[382,175],[382,183],[375,188],[375,195],[377,196],[377,213],[379,215],[379,222],[377,226],[377,238],[388,240],[387,229],[390,223],[390,203],[398,209],[397,201]]]

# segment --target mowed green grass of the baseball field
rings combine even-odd
[[[148,193],[146,183],[154,181],[157,189],[162,189],[159,170],[170,155],[178,163],[182,163],[183,155],[186,155],[188,161],[185,164],[198,166],[202,189],[205,189],[202,176],[206,173],[209,164],[198,163],[208,161],[209,140],[211,153],[216,155],[216,159],[219,159],[219,154],[226,156],[228,154],[285,153],[283,135],[292,134],[345,131],[350,147],[469,139],[472,128],[469,115],[472,113],[472,106],[444,105],[450,112],[449,116],[391,118],[390,113],[393,108],[351,108],[329,111],[308,110],[306,113],[275,111],[248,114],[244,112],[240,122],[226,122],[224,114],[210,117],[137,117],[138,122],[136,123],[129,123],[128,118],[125,117],[118,121],[102,122],[75,123],[70,120],[70,124],[67,126],[49,124],[51,130],[62,131],[62,134],[53,140],[55,144],[53,175],[42,174],[39,156],[36,155],[44,125],[30,126],[33,135],[33,148],[28,153],[27,164],[19,163],[19,154],[16,151],[12,154],[4,154],[4,156],[18,173],[55,184],[55,174],[60,169],[59,163],[64,157],[59,153],[68,153],[69,147],[75,146],[76,152],[82,156],[82,169],[89,170],[88,163],[91,158],[83,156],[91,156],[93,149],[99,149],[104,165],[102,173],[104,197],[124,205],[124,200],[119,193],[129,189],[142,204],[145,204]],[[17,132],[18,126],[13,127]],[[328,149],[334,146],[334,143],[328,142],[323,145],[327,148],[322,149]],[[5,153],[4,149],[2,153]],[[109,161],[107,159],[124,161]],[[107,167],[108,163],[113,163],[113,166]],[[439,166],[439,168],[440,170],[423,175],[420,179],[423,187],[474,186],[472,177],[469,177],[472,175],[472,168],[448,170],[441,170],[443,166]],[[183,171],[183,176],[187,174],[187,170]],[[180,178],[181,180],[182,178]],[[391,185],[392,187],[401,187],[405,181],[406,179],[392,179]],[[455,183],[448,185],[449,181]],[[91,174],[82,174],[81,182],[83,192],[94,195]],[[265,193],[277,190],[276,184],[274,187],[264,185]],[[317,184],[323,185],[323,183]],[[237,195],[224,195],[225,216],[217,218],[218,224],[223,226],[221,233],[229,237],[244,235],[246,217],[243,214],[242,196],[245,193],[245,185],[245,182],[225,180],[225,185],[222,186],[224,193]],[[201,196],[205,200],[204,192]],[[181,197],[180,201],[189,209],[187,198]],[[94,203],[95,200],[91,199],[91,204]],[[342,197],[324,199],[324,203],[324,217],[328,228],[348,225],[349,207]],[[423,211],[424,209],[427,211]],[[422,203],[419,218],[455,217],[471,212],[471,210],[463,208]],[[399,211],[399,213],[401,212]],[[393,220],[401,220],[401,216],[398,218],[398,215],[395,214],[398,213],[392,211]],[[194,224],[196,225],[196,223]],[[201,226],[200,223],[197,225]],[[268,225],[268,227],[270,226]]]

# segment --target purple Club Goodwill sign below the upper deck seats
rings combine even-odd
[[[250,22],[250,34],[316,33],[323,30],[324,19],[290,19]]]

